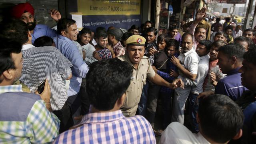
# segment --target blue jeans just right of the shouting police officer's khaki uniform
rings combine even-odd
[[[147,100],[148,100],[148,88],[149,88],[150,82],[147,80],[146,84],[143,86],[142,94],[140,97],[140,102],[138,104],[138,109],[136,114],[141,116],[146,116],[147,111]]]

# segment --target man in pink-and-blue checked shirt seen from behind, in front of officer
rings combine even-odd
[[[119,110],[126,100],[132,67],[117,58],[94,62],[86,75],[92,113],[58,136],[54,144],[156,144],[150,123],[143,116],[126,118]]]

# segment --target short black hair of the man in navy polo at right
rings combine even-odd
[[[223,52],[228,56],[228,58],[234,56],[242,61],[245,49],[241,44],[234,42],[225,46],[221,46],[219,48],[219,52]]]

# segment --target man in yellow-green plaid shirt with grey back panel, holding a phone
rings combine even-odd
[[[41,95],[22,92],[22,85],[13,85],[22,72],[22,45],[4,38],[0,43],[0,143],[52,142],[60,120],[49,111],[48,80]]]

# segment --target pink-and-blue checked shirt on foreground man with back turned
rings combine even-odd
[[[126,118],[121,110],[86,114],[79,127],[60,134],[54,144],[156,144],[150,123],[142,116]]]

